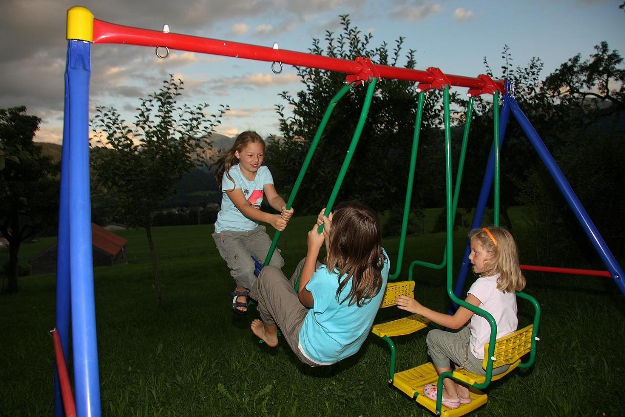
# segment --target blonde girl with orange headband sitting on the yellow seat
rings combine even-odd
[[[469,233],[473,272],[479,277],[469,289],[466,302],[489,312],[497,324],[497,339],[516,331],[516,294],[525,287],[525,278],[519,268],[519,252],[510,232],[500,227],[482,227]],[[458,307],[456,314],[432,311],[410,297],[397,297],[397,307],[430,319],[449,329],[459,329],[469,319],[471,323],[457,332],[432,330],[427,334],[427,353],[440,375],[451,371],[451,361],[456,368],[484,375],[484,345],[491,336],[491,327],[484,317]],[[509,365],[492,369],[492,374],[505,372]],[[442,404],[458,408],[471,402],[469,389],[450,378],[443,381]],[[436,401],[436,385],[427,384],[423,393]]]

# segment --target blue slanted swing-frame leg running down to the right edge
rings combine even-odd
[[[556,182],[557,188],[560,189],[564,199],[567,203],[569,203],[575,217],[577,217],[577,221],[579,221],[579,224],[581,224],[584,232],[586,232],[586,235],[588,236],[588,239],[590,239],[594,249],[597,251],[597,254],[599,254],[599,257],[601,257],[601,260],[612,274],[612,279],[616,282],[616,285],[619,287],[621,292],[625,294],[625,282],[623,282],[625,276],[623,275],[623,271],[618,262],[616,262],[616,259],[614,258],[614,255],[612,255],[609,247],[607,247],[606,242],[601,237],[601,234],[599,234],[599,230],[597,230],[594,223],[592,223],[586,209],[584,209],[584,206],[582,206],[579,198],[575,195],[575,192],[572,190],[569,182],[566,178],[564,178],[564,174],[562,174],[562,171],[557,166],[557,163],[554,161],[551,153],[549,153],[549,150],[547,150],[547,147],[542,142],[540,136],[538,136],[538,133],[534,130],[534,126],[532,126],[522,112],[521,108],[519,108],[516,100],[511,97],[508,97],[507,100],[509,101],[510,109],[514,114],[514,117],[519,122],[519,125],[521,125],[521,128],[527,135],[527,138],[529,138],[529,142],[532,143],[534,149],[538,152],[542,163],[544,163],[545,167],[551,174],[551,177]]]

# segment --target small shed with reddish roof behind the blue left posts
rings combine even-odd
[[[109,232],[97,224],[91,224],[93,243],[93,266],[126,264],[126,242],[128,240]],[[30,261],[31,275],[56,273],[57,244],[47,248]]]

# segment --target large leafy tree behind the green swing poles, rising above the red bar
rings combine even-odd
[[[356,59],[364,56],[376,64],[399,64],[404,38],[397,39],[392,51],[382,43],[371,45],[371,34],[362,35],[352,26],[347,15],[340,16],[342,31],[335,35],[326,31],[325,48],[313,39],[309,51],[332,58]],[[405,68],[414,68],[414,50],[405,55]],[[316,68],[297,68],[303,90],[296,96],[286,91],[281,97],[291,106],[292,115],[285,114],[284,105],[276,105],[281,138],[267,147],[267,164],[274,177],[282,178],[281,190],[290,192],[307,150],[332,96],[343,86],[345,75]],[[299,212],[317,212],[330,195],[341,168],[349,141],[356,129],[366,87],[356,86],[336,106],[327,123],[317,151],[302,182],[296,200]],[[432,183],[444,190],[444,147],[438,126],[442,122],[440,94],[429,93],[424,111],[417,162],[417,181],[412,207],[420,207],[422,196]],[[402,80],[381,80],[376,86],[371,110],[350,168],[342,183],[339,199],[359,198],[379,210],[403,207],[410,160],[410,149],[416,116],[417,93],[414,83]],[[437,158],[437,162],[427,163]],[[424,161],[425,163],[422,163]],[[310,173],[314,172],[314,175]],[[437,182],[427,180],[437,176]],[[286,183],[285,183],[286,182]],[[443,194],[444,195],[444,194]]]

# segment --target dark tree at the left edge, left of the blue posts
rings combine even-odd
[[[54,224],[58,210],[59,167],[32,142],[41,119],[26,107],[0,109],[0,148],[19,151],[19,163],[6,158],[0,170],[0,230],[9,242],[8,286],[16,292],[22,242]],[[4,283],[3,283],[4,284]]]

